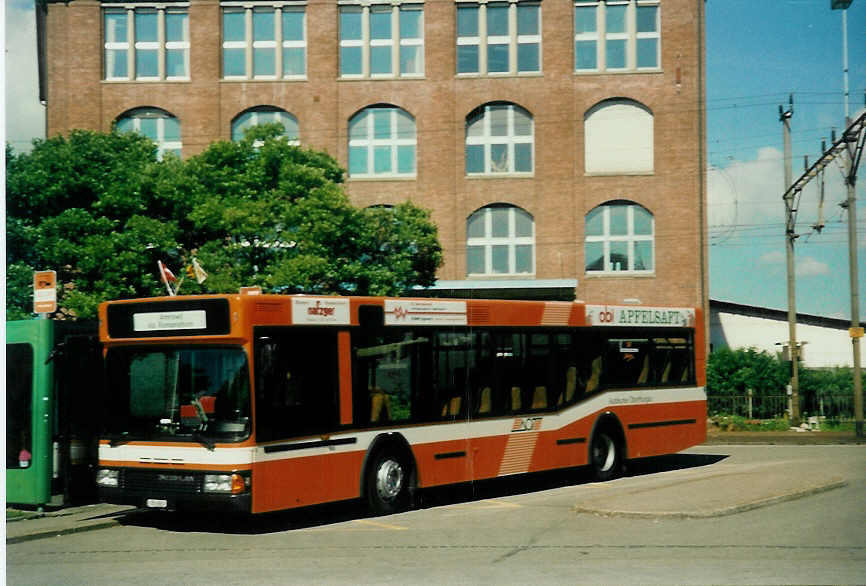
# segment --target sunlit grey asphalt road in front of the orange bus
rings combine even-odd
[[[864,464],[862,445],[705,445],[603,485],[575,471],[485,483],[427,493],[422,508],[389,517],[353,504],[252,520],[136,513],[10,544],[6,575],[16,585],[862,584]],[[780,491],[770,478],[825,489],[721,506]],[[716,513],[664,514],[694,503]]]

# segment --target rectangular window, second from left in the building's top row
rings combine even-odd
[[[305,16],[301,2],[224,5],[223,78],[304,79]]]

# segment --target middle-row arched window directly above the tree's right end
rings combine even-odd
[[[370,106],[349,119],[350,177],[414,177],[415,119],[395,106]]]

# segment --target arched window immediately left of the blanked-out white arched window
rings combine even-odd
[[[532,115],[515,104],[492,102],[466,117],[466,174],[532,173]]]

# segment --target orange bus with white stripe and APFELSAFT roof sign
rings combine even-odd
[[[265,513],[706,438],[700,308],[209,295],[99,309],[105,502]]]

